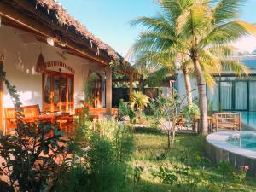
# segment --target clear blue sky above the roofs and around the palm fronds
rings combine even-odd
[[[67,12],[86,28],[125,56],[136,40],[141,27],[130,26],[138,16],[154,16],[160,11],[155,0],[58,0]],[[241,9],[241,19],[256,23],[256,0],[247,0]],[[241,38],[237,48],[252,52],[256,38]]]

